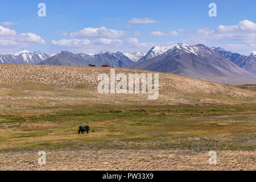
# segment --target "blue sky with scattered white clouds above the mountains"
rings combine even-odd
[[[208,15],[212,2],[216,17]],[[39,3],[46,17],[38,16]],[[183,42],[247,54],[256,51],[255,15],[255,0],[2,1],[0,53],[147,52]]]

